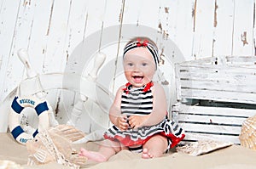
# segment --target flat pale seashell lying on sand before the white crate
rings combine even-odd
[[[182,147],[177,147],[177,152],[186,153],[192,156],[204,155],[217,149],[223,149],[233,145],[232,143],[224,143],[215,140],[199,140],[192,144],[186,144]]]

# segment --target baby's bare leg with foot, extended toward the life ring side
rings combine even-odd
[[[87,149],[80,149],[79,155],[85,156],[89,161],[104,162],[118,153],[122,149],[119,142],[104,140],[101,143],[99,151],[89,151]]]

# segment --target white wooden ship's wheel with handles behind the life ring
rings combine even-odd
[[[4,121],[6,120],[6,116],[9,114],[9,105],[11,104],[12,99],[15,97],[15,95],[19,96],[31,96],[34,95],[38,99],[45,99],[46,98],[46,93],[45,91],[49,91],[55,88],[65,88],[70,91],[74,91],[75,93],[81,94],[81,98],[79,99],[78,103],[74,105],[73,107],[73,112],[71,113],[71,119],[68,121],[68,124],[73,124],[75,126],[76,122],[78,121],[80,115],[83,113],[82,110],[84,108],[84,103],[90,99],[91,102],[94,102],[96,104],[98,103],[97,96],[96,96],[96,88],[99,88],[99,90],[102,90],[102,97],[103,98],[109,98],[108,97],[108,90],[106,90],[104,87],[101,87],[100,84],[96,84],[96,76],[98,73],[98,70],[102,66],[104,60],[106,59],[106,55],[102,53],[97,53],[96,54],[96,59],[94,62],[94,67],[88,74],[88,76],[79,76],[79,75],[74,75],[70,74],[67,75],[69,78],[69,82],[63,84],[62,79],[64,77],[63,73],[49,73],[49,74],[42,74],[39,75],[33,68],[32,65],[29,61],[29,56],[27,54],[26,49],[20,49],[18,51],[18,56],[21,60],[21,62],[25,65],[26,68],[26,74],[27,78],[20,82],[20,85],[15,88],[15,90],[9,94],[7,99],[5,99],[3,107],[1,110],[3,110],[2,115],[5,117],[2,118],[1,120],[3,123],[1,123],[1,131],[7,130],[7,123]],[[81,89],[75,88],[73,82],[76,82],[77,79],[80,79],[80,81],[83,84],[86,84],[84,87]],[[50,126],[56,126],[59,124],[58,121],[55,120],[55,114],[50,106],[49,103],[49,122]],[[101,103],[100,103],[101,104]],[[102,106],[105,106],[106,103],[102,103]],[[109,103],[107,103],[109,104]],[[95,138],[95,137],[94,137]]]

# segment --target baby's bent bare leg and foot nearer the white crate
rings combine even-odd
[[[167,138],[161,135],[154,135],[143,145],[143,159],[160,157],[168,147]]]

